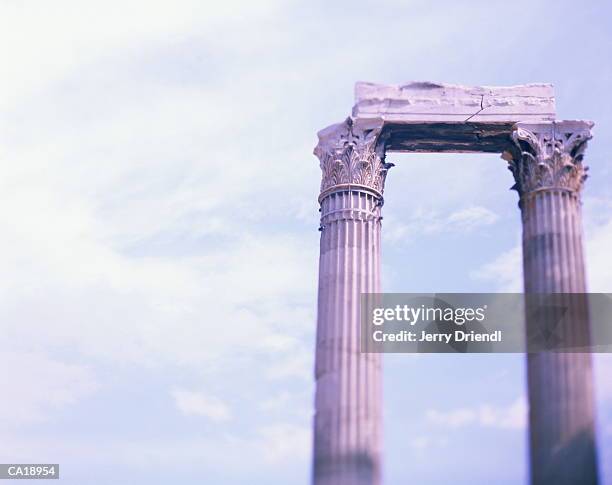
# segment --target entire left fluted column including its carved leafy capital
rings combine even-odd
[[[381,476],[381,362],[360,352],[360,295],[380,292],[383,188],[391,164],[379,130],[349,118],[319,132],[321,252],[313,483],[372,485]]]

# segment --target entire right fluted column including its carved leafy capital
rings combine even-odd
[[[591,127],[583,121],[518,123],[515,147],[504,154],[520,196],[526,298],[578,294],[559,296],[571,300],[571,310],[555,329],[574,349],[590,341],[580,192]],[[527,335],[541,330],[541,313],[530,315],[529,305],[526,323]],[[528,353],[527,378],[531,483],[598,483],[591,355]]]

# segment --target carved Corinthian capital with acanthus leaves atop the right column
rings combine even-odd
[[[502,154],[514,175],[512,189],[522,197],[538,189],[564,189],[579,193],[587,178],[583,164],[590,121],[517,123],[513,146]]]

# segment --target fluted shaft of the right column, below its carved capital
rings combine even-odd
[[[584,293],[580,201],[544,190],[522,201],[526,293]],[[587,306],[568,305],[574,342],[588,340]],[[533,318],[533,317],[532,317]],[[534,326],[541,322],[527,318]],[[528,333],[530,329],[528,328]],[[596,484],[591,354],[527,354],[531,479],[537,485]]]

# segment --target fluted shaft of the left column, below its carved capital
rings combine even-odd
[[[360,295],[380,291],[379,198],[335,192],[322,201],[316,350],[314,479],[378,484],[379,354],[360,352]]]

